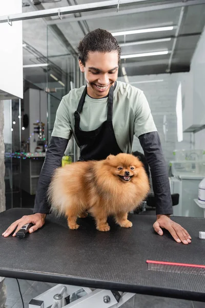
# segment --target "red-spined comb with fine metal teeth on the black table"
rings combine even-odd
[[[149,271],[205,276],[205,265],[147,260]]]

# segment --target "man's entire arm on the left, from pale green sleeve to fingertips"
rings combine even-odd
[[[50,206],[47,202],[48,186],[51,182],[53,171],[60,166],[61,158],[63,157],[68,141],[72,136],[68,103],[69,95],[61,100],[56,111],[52,137],[46,151],[46,158],[38,180],[33,210],[34,214],[25,215],[14,221],[2,234],[4,237],[8,237],[13,230],[16,229],[13,234],[13,236],[15,236],[18,230],[27,223],[33,224],[29,229],[29,233],[36,231],[44,225],[46,215],[50,213]]]

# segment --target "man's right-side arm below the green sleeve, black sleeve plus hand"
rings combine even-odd
[[[157,220],[153,224],[155,231],[163,235],[162,228],[165,228],[176,242],[191,243],[187,230],[170,219],[170,214],[173,213],[170,184],[158,132],[142,134],[139,136],[139,141],[151,169],[152,186],[156,198]]]

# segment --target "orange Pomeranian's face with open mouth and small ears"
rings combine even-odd
[[[142,163],[131,154],[120,153],[116,156],[109,155],[106,159],[110,171],[122,182],[130,182],[133,177],[137,177]]]

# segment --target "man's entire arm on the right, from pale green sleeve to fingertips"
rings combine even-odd
[[[139,138],[151,169],[153,190],[157,204],[157,219],[153,224],[155,232],[163,235],[162,228],[165,228],[178,243],[190,243],[191,237],[187,230],[170,219],[170,214],[173,211],[167,167],[163,157],[159,135],[148,101],[143,92],[139,92],[136,97],[134,134]]]

